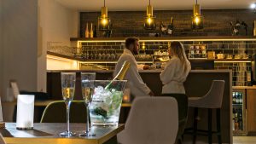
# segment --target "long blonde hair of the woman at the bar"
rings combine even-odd
[[[177,55],[178,59],[182,61],[184,71],[186,71],[187,68],[188,68],[188,66],[186,64],[187,56],[185,54],[185,49],[183,47],[183,44],[180,43],[180,42],[172,42],[171,43],[171,49],[172,49],[172,53],[174,55]]]

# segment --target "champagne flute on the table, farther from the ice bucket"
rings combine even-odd
[[[69,130],[69,107],[73,101],[75,89],[76,73],[75,72],[61,72],[61,89],[62,97],[67,107],[67,131],[62,132],[61,136],[71,136],[75,133]]]

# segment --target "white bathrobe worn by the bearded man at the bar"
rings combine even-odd
[[[128,80],[126,88],[131,89],[131,95],[134,95],[135,97],[149,96],[148,94],[151,90],[143,83],[143,79],[138,73],[137,61],[129,49],[124,49],[124,53],[119,57],[113,76],[117,75],[125,60],[128,60],[131,63],[129,70],[125,75],[125,79]]]

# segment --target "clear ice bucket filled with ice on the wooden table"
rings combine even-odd
[[[126,80],[96,80],[90,103],[92,125],[116,125],[123,99]]]

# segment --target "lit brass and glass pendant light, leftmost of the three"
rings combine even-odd
[[[98,17],[98,26],[100,31],[110,30],[111,21],[108,17],[108,8],[105,7],[105,0],[104,0],[104,7],[102,7],[102,14]]]

